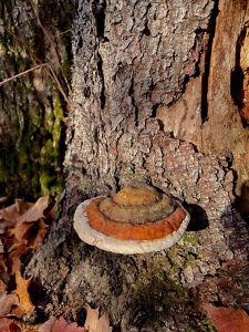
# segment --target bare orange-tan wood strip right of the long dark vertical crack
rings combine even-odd
[[[219,1],[208,79],[209,118],[204,126],[204,151],[217,155],[231,152],[242,129],[230,89],[231,72],[236,66],[237,40],[249,13],[247,2]]]

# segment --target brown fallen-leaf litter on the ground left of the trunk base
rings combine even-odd
[[[8,199],[2,197],[0,204],[7,205]],[[98,317],[98,310],[89,305],[84,328],[75,322],[68,323],[62,317],[51,317],[39,324],[29,323],[35,311],[39,290],[32,276],[22,277],[23,266],[28,256],[39,250],[55,215],[56,207],[49,196],[39,198],[35,204],[17,199],[0,209],[0,332],[112,331],[107,313]]]

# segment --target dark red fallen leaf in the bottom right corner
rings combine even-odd
[[[239,309],[201,305],[218,332],[249,332],[249,315]]]

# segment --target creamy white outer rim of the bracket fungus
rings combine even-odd
[[[91,246],[95,246],[102,250],[106,250],[115,253],[123,253],[123,255],[145,253],[145,252],[153,252],[153,251],[167,249],[179,241],[190,220],[189,214],[178,203],[178,205],[185,210],[186,217],[183,220],[178,230],[174,231],[172,235],[167,235],[164,238],[155,239],[155,240],[115,239],[113,237],[108,237],[102,232],[96,231],[90,226],[87,221],[89,219],[85,212],[85,208],[91,203],[91,200],[95,198],[100,198],[100,197],[87,199],[77,206],[73,218],[74,220],[73,227],[82,241]]]

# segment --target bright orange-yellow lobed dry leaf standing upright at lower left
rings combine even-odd
[[[13,294],[19,297],[19,305],[12,309],[11,314],[21,318],[23,314],[31,313],[34,310],[34,305],[31,303],[28,288],[31,283],[32,278],[23,279],[20,272],[15,273],[17,289]]]

